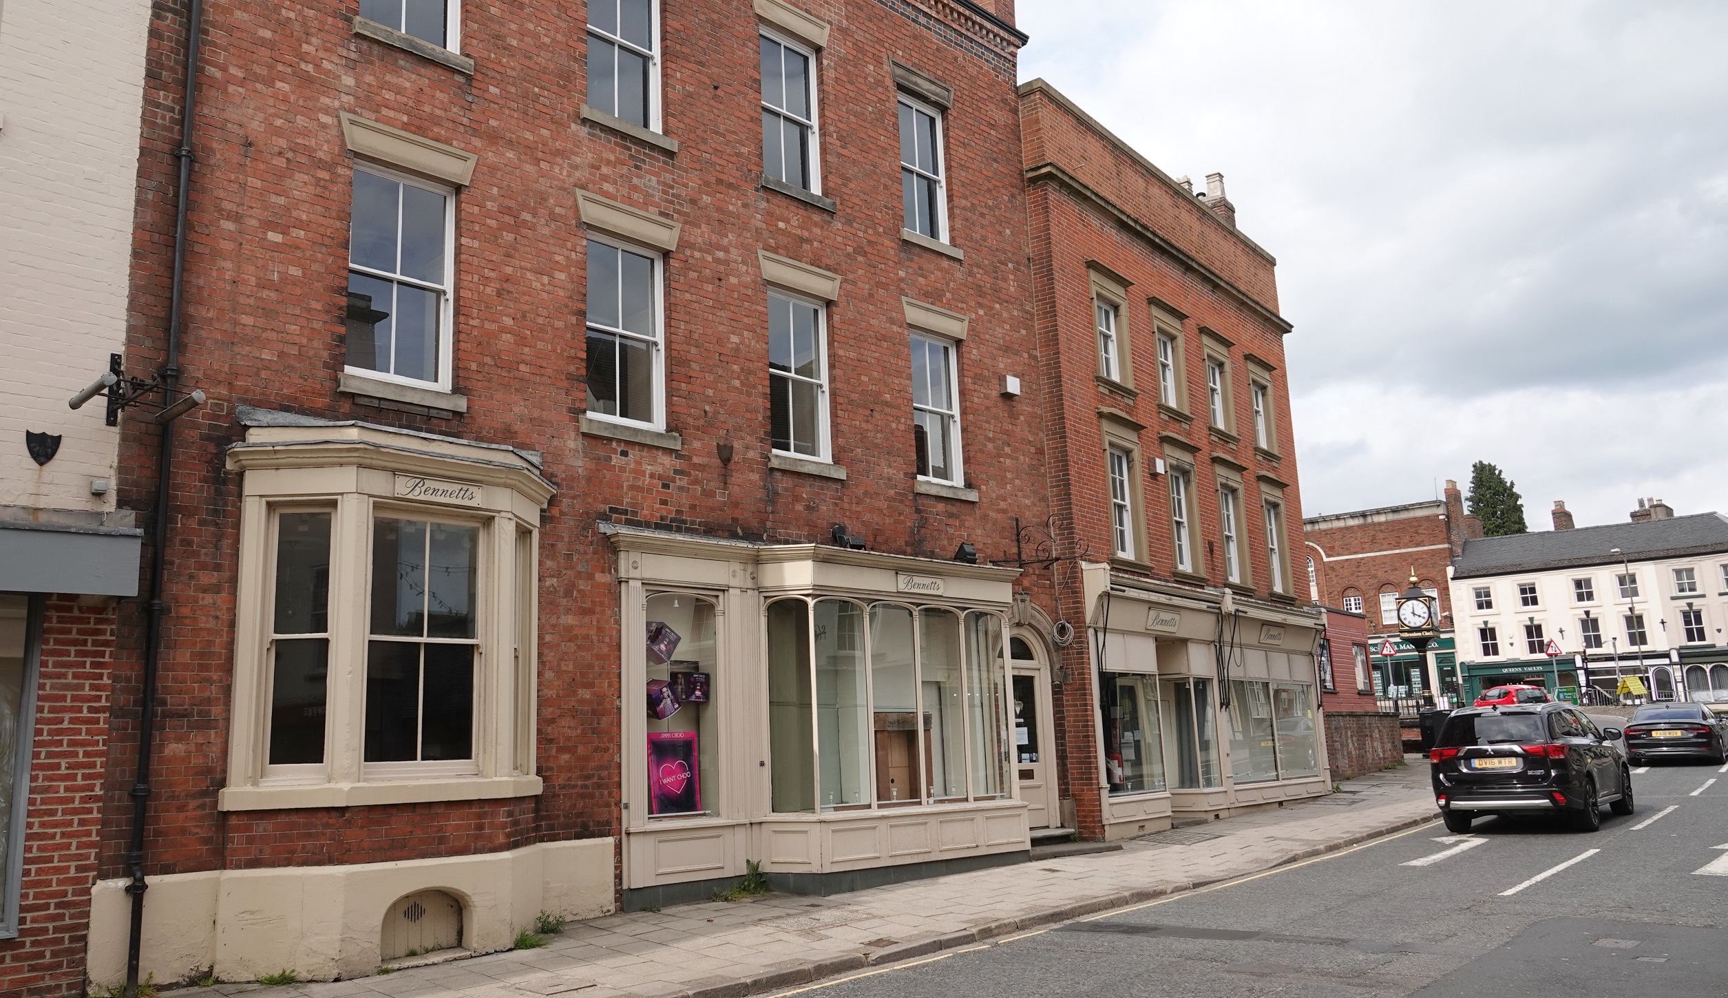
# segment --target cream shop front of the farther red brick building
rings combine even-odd
[[[1329,789],[1313,614],[1085,566],[1106,839]],[[1222,611],[1222,612],[1220,612]]]

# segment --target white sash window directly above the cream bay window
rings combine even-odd
[[[446,384],[454,194],[354,170],[347,270],[347,367]]]

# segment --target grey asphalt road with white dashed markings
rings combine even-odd
[[[785,991],[809,998],[1728,993],[1728,766],[1633,775],[1638,809],[1438,822],[987,946]],[[1709,782],[1714,780],[1714,782]],[[1714,863],[1719,875],[1702,873]]]

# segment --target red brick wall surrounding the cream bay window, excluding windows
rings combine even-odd
[[[1049,514],[1044,400],[1020,159],[1016,42],[943,0],[800,3],[833,28],[819,59],[823,192],[838,211],[764,190],[759,21],[748,0],[667,3],[669,154],[584,123],[582,9],[470,2],[473,76],[351,29],[353,0],[206,3],[190,204],[181,384],[209,405],[176,429],[161,709],[147,873],[491,853],[615,835],[619,597],[596,521],[774,543],[826,543],[843,522],[871,550],[1013,553],[1014,517]],[[1013,16],[999,2],[997,14]],[[173,246],[173,147],[185,3],[157,0],[128,365],[161,363]],[[964,261],[900,239],[890,59],[954,88],[945,118],[949,220]],[[363,405],[344,363],[353,112],[479,154],[456,195],[454,391],[449,419]],[[665,266],[667,429],[677,451],[582,436],[586,232],[575,190],[677,220]],[[831,436],[848,479],[767,467],[767,301],[757,251],[842,275],[828,313]],[[902,296],[968,315],[959,351],[968,484],[982,502],[912,493]],[[1001,377],[1023,394],[1001,394]],[[511,801],[233,811],[216,808],[232,730],[242,439],[235,406],[458,436],[541,451],[558,488],[539,547],[537,771]],[[411,408],[411,406],[410,406]],[[152,502],[159,434],[128,422],[121,503]],[[729,464],[721,445],[736,448]],[[1294,522],[1294,521],[1293,521]],[[145,559],[152,552],[145,550]],[[1054,616],[1051,573],[1018,588]],[[124,873],[142,616],[123,614],[105,773],[102,875]]]

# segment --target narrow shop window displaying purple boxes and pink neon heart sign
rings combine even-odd
[[[715,649],[710,600],[689,593],[648,597],[650,816],[717,809]]]

